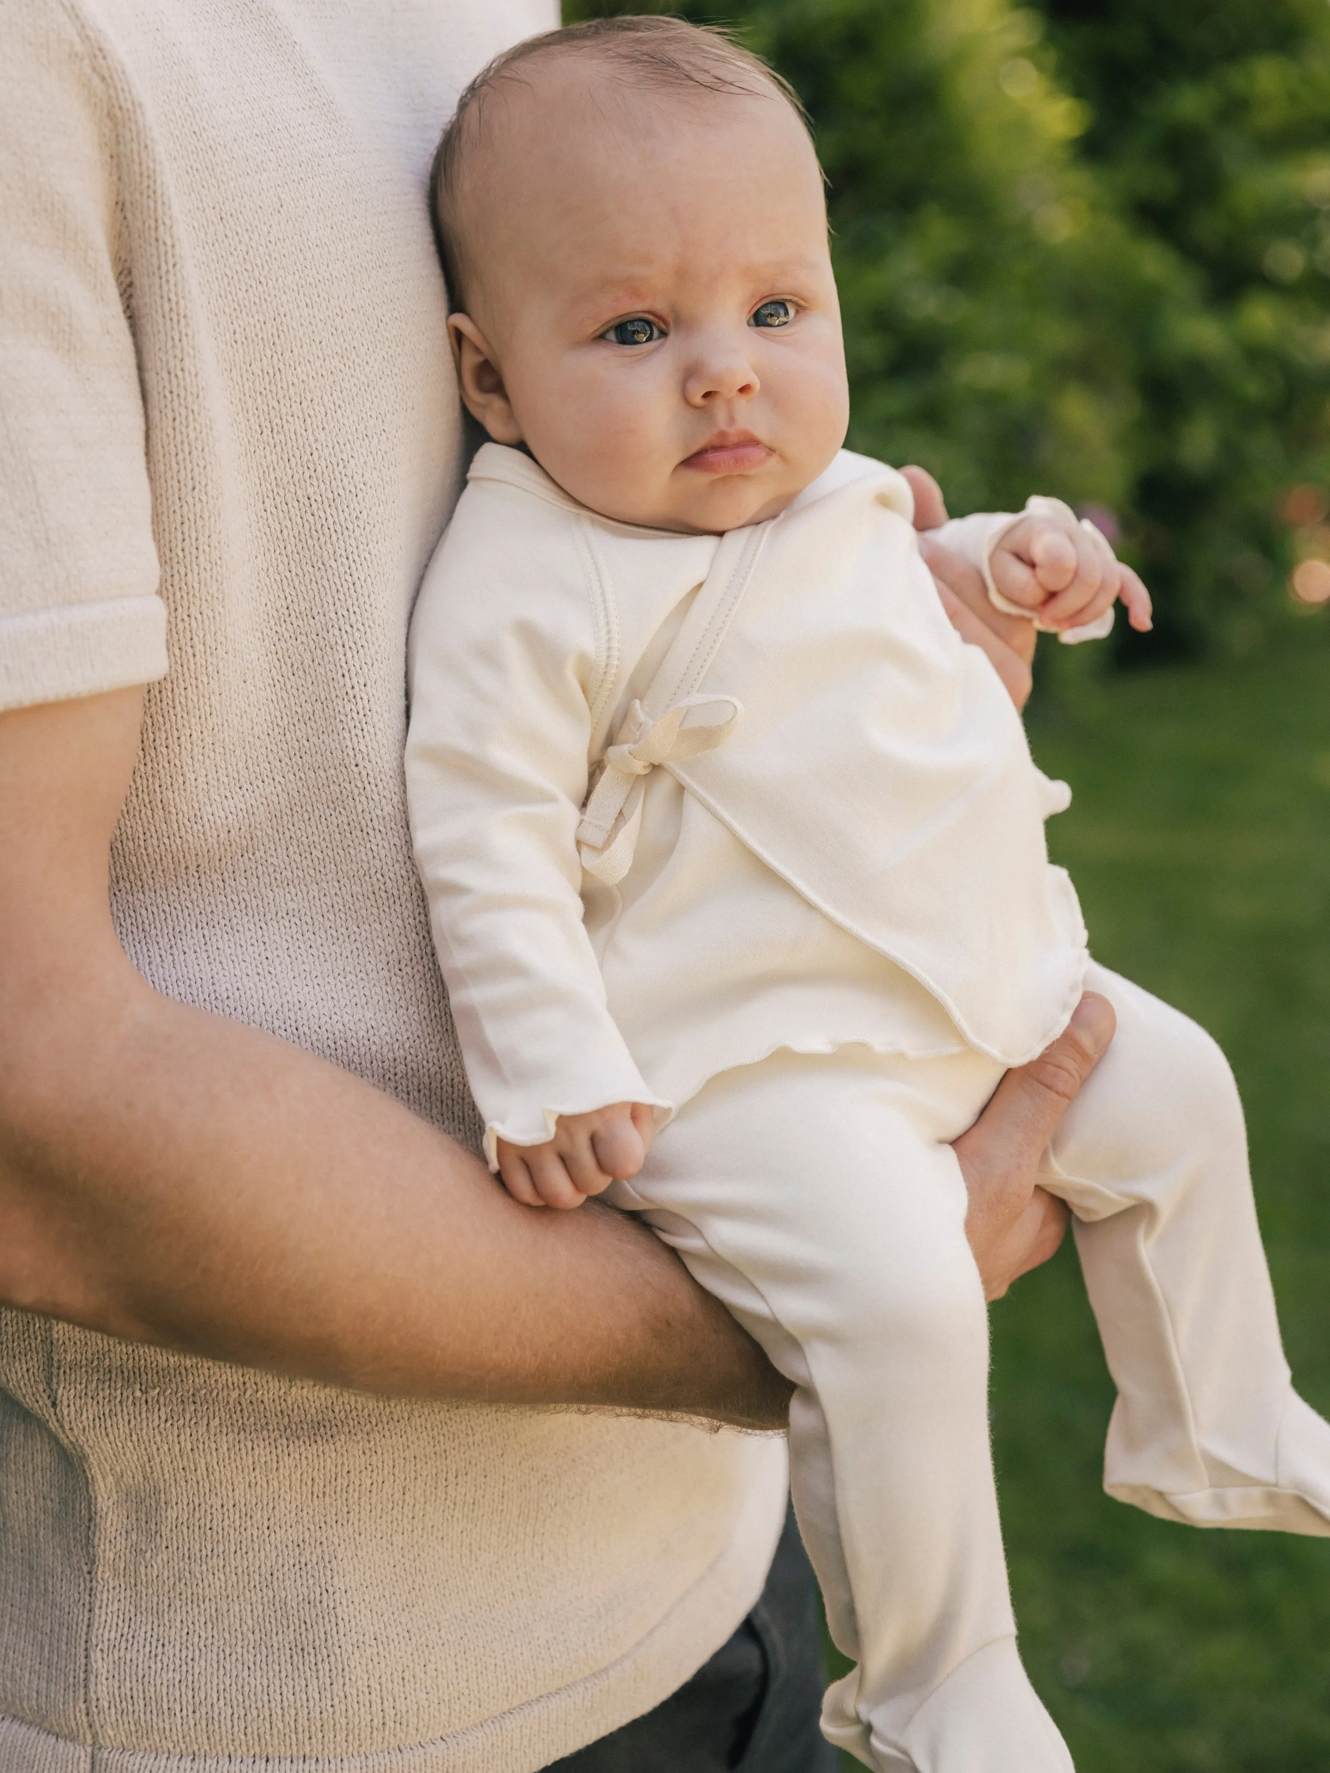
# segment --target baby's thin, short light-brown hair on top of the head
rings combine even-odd
[[[525,62],[550,57],[594,59],[619,73],[624,83],[645,89],[693,87],[748,96],[768,92],[789,105],[812,135],[809,113],[791,83],[715,25],[690,25],[681,18],[660,16],[598,18],[527,37],[497,55],[466,87],[429,170],[429,220],[454,307],[463,301],[465,271],[458,246],[458,191],[463,161],[484,124],[486,99],[505,82],[521,80]]]

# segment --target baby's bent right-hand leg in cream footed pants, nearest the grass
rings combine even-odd
[[[1229,1066],[1101,966],[1117,1035],[1041,1179],[1076,1245],[1117,1385],[1105,1488],[1197,1527],[1330,1534],[1330,1424],[1291,1388]]]

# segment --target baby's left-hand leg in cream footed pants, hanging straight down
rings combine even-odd
[[[974,1055],[777,1055],[713,1080],[615,1195],[798,1386],[794,1507],[858,1661],[825,1729],[883,1773],[1071,1769],[1016,1654],[988,1317],[942,1144],[997,1076]]]

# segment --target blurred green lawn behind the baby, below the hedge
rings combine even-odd
[[[1071,661],[1030,732],[1075,789],[1050,842],[1096,957],[1232,1060],[1286,1347],[1330,1413],[1330,615],[1245,661]],[[1112,1386],[1069,1243],[993,1337],[1021,1649],[1080,1773],[1328,1773],[1330,1541],[1103,1495]]]

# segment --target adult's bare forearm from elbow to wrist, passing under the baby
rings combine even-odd
[[[782,1420],[784,1381],[649,1232],[520,1207],[335,1066],[128,963],[46,979],[23,1027],[0,1085],[7,1303],[387,1394]]]

